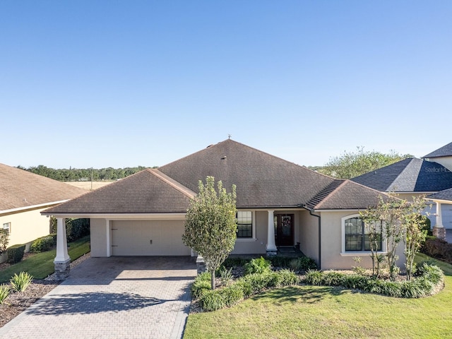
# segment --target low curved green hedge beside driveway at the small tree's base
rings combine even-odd
[[[236,283],[216,290],[210,289],[210,273],[198,275],[191,287],[191,294],[204,311],[216,311],[230,307],[251,295],[270,287],[283,287],[299,283],[298,276],[291,270],[253,273],[239,278]]]

